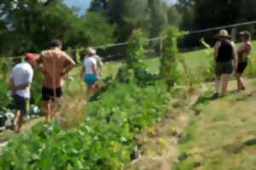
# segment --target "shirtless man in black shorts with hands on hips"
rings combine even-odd
[[[54,40],[50,42],[51,49],[43,51],[36,59],[36,68],[44,75],[42,96],[44,100],[44,116],[49,121],[54,116],[56,102],[61,98],[62,78],[73,69],[75,65],[65,52],[61,51],[62,42]],[[43,65],[43,67],[40,66]],[[52,104],[50,107],[49,104]]]

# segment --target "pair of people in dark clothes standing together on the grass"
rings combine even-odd
[[[215,88],[216,92],[212,99],[218,99],[224,96],[229,83],[230,74],[235,72],[237,89],[245,90],[244,82],[241,78],[243,71],[247,67],[248,59],[252,49],[250,42],[251,34],[249,31],[241,31],[241,47],[236,51],[236,45],[230,40],[228,31],[221,30],[218,33],[218,42],[214,46],[214,59],[216,61],[215,67]],[[223,84],[221,94],[219,88],[221,85],[221,77],[223,76]]]

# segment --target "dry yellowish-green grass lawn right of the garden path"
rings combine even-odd
[[[179,169],[256,169],[255,84],[255,79],[246,80],[247,90],[236,93],[236,82],[231,82],[226,97],[203,104],[201,114],[192,118],[194,126],[186,130],[190,138],[181,148],[188,158]]]

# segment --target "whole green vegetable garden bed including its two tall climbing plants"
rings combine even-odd
[[[120,170],[137,159],[141,145],[137,144],[135,134],[161,122],[172,111],[170,99],[191,92],[201,82],[186,61],[179,58],[177,37],[183,34],[176,27],[168,27],[160,73],[152,74],[142,61],[147,41],[142,31],[133,31],[117,76],[106,77],[101,90],[86,105],[76,98],[79,93],[70,98],[73,105],[83,106],[68,110],[72,103],[61,104],[61,116],[72,111],[67,113],[73,115],[67,117],[68,121],[74,122],[73,118],[79,115],[82,121],[68,128],[58,120],[39,122],[30,131],[12,137],[2,150],[0,170]],[[2,63],[3,70],[8,64]],[[42,77],[36,74],[32,105],[38,105],[40,110]],[[5,94],[9,89],[8,75],[1,79],[1,111],[7,111],[6,108],[13,108],[9,94]]]

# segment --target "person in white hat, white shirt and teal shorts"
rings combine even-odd
[[[84,77],[84,82],[87,84],[86,99],[89,99],[90,94],[99,88],[96,84],[98,76],[102,76],[102,61],[96,55],[94,48],[87,48],[88,56],[84,58],[84,65],[81,71],[81,77]],[[97,71],[100,68],[100,72]]]

